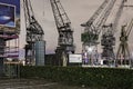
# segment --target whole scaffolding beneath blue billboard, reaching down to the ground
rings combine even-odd
[[[0,76],[3,76],[8,65],[7,59],[19,59],[19,36],[14,32],[0,31]],[[9,70],[10,71],[10,70]]]

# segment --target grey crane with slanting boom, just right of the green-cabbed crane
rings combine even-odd
[[[116,16],[114,18],[114,21],[108,26],[104,24],[104,27],[103,27],[102,40],[101,40],[101,44],[103,46],[102,58],[105,58],[110,62],[115,61],[115,55],[113,51],[113,47],[115,46],[114,32],[117,29],[117,23],[121,18],[125,2],[126,2],[126,0],[121,1],[121,4],[120,4]]]

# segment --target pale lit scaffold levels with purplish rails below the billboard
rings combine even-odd
[[[19,57],[19,36],[0,33],[0,58]]]

